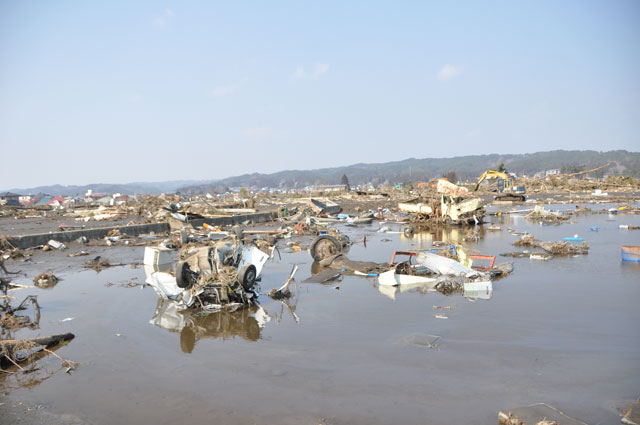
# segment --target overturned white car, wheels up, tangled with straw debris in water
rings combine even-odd
[[[234,236],[211,246],[184,248],[175,272],[145,265],[146,282],[158,295],[178,303],[178,309],[235,310],[256,303],[264,264],[270,256]]]

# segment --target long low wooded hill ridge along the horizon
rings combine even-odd
[[[640,178],[640,152],[616,150],[536,152],[527,154],[469,155],[453,158],[409,158],[378,164],[353,164],[342,167],[315,170],[285,170],[271,174],[244,174],[220,180],[173,180],[166,182],[136,182],[126,184],[88,184],[82,186],[38,186],[27,189],[9,189],[19,194],[46,193],[54,196],[83,195],[91,189],[94,193],[121,193],[123,195],[159,193],[221,192],[229,187],[281,187],[302,188],[310,185],[338,184],[346,175],[351,185],[365,183],[402,183],[426,181],[454,172],[458,180],[475,181],[487,169],[500,163],[518,175],[531,176],[539,171],[561,169],[576,171],[591,169],[611,163],[600,174],[627,175]],[[0,191],[2,192],[2,191]]]

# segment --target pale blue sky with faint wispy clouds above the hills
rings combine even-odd
[[[640,1],[0,2],[0,189],[638,151]]]

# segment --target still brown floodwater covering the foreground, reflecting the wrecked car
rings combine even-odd
[[[313,260],[285,252],[286,240],[281,260],[265,266],[261,293],[298,264],[288,305],[261,295],[261,308],[177,316],[184,323],[152,288],[135,285],[146,279],[142,266],[59,273],[52,289],[14,293],[30,291],[42,307],[40,329],[17,336],[72,332],[58,353],[79,366],[16,385],[0,402],[93,424],[495,424],[499,410],[538,402],[589,424],[619,423],[620,405],[640,396],[640,266],[620,255],[621,245],[640,245],[640,231],[619,225],[638,226],[640,216],[578,215],[549,226],[488,219],[501,230],[485,224],[477,243],[462,244],[513,262],[490,299],[381,291],[371,277],[302,283]],[[464,234],[407,238],[400,225],[387,226],[392,232],[377,232],[376,222],[340,227],[356,242],[348,257],[388,262],[394,250],[461,243]],[[501,257],[522,250],[508,228],[542,241],[578,234],[590,252]],[[143,250],[129,261],[142,261]]]

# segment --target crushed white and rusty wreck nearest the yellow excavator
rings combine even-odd
[[[478,197],[469,197],[469,190],[439,179],[438,196],[413,199],[398,203],[401,212],[410,215],[418,224],[479,224],[485,215],[484,203]]]

